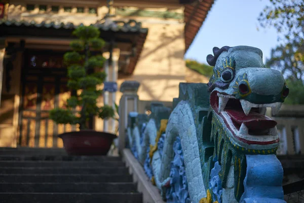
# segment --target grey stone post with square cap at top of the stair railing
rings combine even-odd
[[[121,84],[120,91],[123,93],[119,103],[119,151],[122,152],[126,146],[126,129],[128,115],[137,112],[139,82],[125,81]]]

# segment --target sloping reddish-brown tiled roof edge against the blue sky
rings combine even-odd
[[[185,5],[184,9],[184,38],[185,52],[192,44],[194,38],[199,32],[209,10],[211,9],[214,0],[201,0],[192,4]]]

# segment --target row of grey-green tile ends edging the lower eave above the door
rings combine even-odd
[[[35,21],[27,22],[27,21],[16,21],[16,20],[0,20],[0,25],[6,26],[26,26],[26,27],[43,27],[43,28],[55,28],[55,29],[75,29],[78,26],[82,26],[83,24],[74,25],[71,22],[67,23],[57,23],[57,22],[41,22],[37,23]],[[147,29],[141,27],[140,22],[136,22],[135,20],[130,20],[128,22],[124,21],[111,21],[104,23],[95,23],[91,24],[95,27],[98,27],[103,31],[114,31],[114,32],[142,32],[146,33]]]

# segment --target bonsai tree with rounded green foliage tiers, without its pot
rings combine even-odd
[[[63,60],[68,66],[67,87],[78,93],[67,99],[65,108],[51,110],[50,118],[56,123],[79,124],[80,129],[87,129],[88,120],[93,116],[102,119],[114,116],[114,110],[110,106],[96,105],[96,99],[102,93],[97,86],[103,83],[106,75],[103,71],[94,70],[102,69],[105,59],[102,55],[92,55],[91,51],[101,51],[105,42],[99,39],[100,32],[94,26],[80,26],[73,31],[73,35],[78,40],[70,43],[73,51],[65,53]],[[81,90],[81,93],[77,90]],[[75,111],[76,107],[81,107],[80,112]]]

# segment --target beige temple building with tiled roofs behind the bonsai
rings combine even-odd
[[[183,57],[212,4],[0,0],[0,147],[62,147],[55,135],[77,129],[57,125],[48,112],[64,106],[70,96],[62,56],[80,25],[97,26],[106,41],[107,81],[119,87],[125,80],[137,80],[141,100],[172,101],[180,82],[194,80],[196,73],[185,68]],[[114,106],[120,98],[119,91],[105,92],[98,103]],[[96,118],[92,127],[113,131],[115,122]]]

